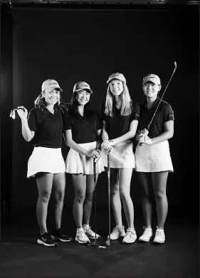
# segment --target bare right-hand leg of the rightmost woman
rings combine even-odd
[[[166,195],[168,171],[152,173],[152,183],[154,196],[157,205],[157,227],[164,229],[164,223],[167,218],[168,202]]]

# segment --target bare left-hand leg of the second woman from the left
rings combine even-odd
[[[74,187],[73,217],[76,228],[82,228],[83,222],[83,202],[85,200],[86,176],[83,174],[72,174]]]

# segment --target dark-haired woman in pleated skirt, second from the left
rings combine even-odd
[[[97,139],[100,135],[98,113],[90,109],[90,95],[93,91],[86,82],[78,82],[73,87],[68,117],[65,117],[65,140],[70,147],[66,159],[66,172],[71,173],[75,191],[73,216],[76,225],[75,241],[90,242],[100,237],[90,228],[90,215],[95,190],[93,162],[96,176],[104,171]]]

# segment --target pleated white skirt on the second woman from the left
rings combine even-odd
[[[97,143],[96,141],[85,144],[78,144],[83,149],[87,151],[94,151],[96,149]],[[93,157],[84,156],[83,154],[79,154],[78,151],[74,151],[70,149],[68,152],[68,156],[65,162],[66,172],[67,173],[83,173],[85,175],[93,175]],[[101,173],[105,171],[104,166],[102,164],[102,159],[100,158],[96,163],[96,173]]]

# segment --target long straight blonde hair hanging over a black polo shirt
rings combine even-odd
[[[120,104],[121,104],[120,114],[122,116],[128,116],[132,112],[132,100],[131,100],[127,85],[125,84],[124,81],[122,81],[122,85],[123,85],[124,89],[119,96]],[[113,117],[113,113],[112,113],[113,97],[114,97],[114,95],[110,91],[110,83],[109,83],[107,86],[107,95],[106,95],[106,99],[105,99],[105,114],[110,117]]]

